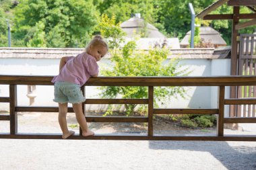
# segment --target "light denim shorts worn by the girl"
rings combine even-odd
[[[82,103],[86,101],[81,87],[74,83],[56,81],[53,101],[57,103]]]

